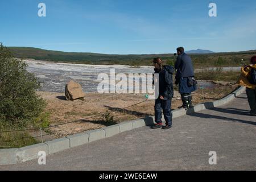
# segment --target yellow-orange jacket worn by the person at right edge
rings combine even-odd
[[[240,78],[237,81],[237,85],[245,86],[246,88],[249,88],[249,89],[255,89],[256,88],[256,85],[251,84],[248,80],[248,77],[249,77],[250,72],[251,72],[251,68],[256,69],[256,64],[250,65],[249,67],[246,67],[246,68],[245,67],[241,68],[242,73],[241,73]]]

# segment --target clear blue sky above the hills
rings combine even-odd
[[[46,3],[47,16],[38,16]],[[217,17],[208,15],[217,4]],[[0,1],[0,42],[67,52],[172,53],[256,49],[256,1]]]

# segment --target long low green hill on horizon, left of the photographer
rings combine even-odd
[[[33,47],[8,47],[15,57],[81,64],[129,64],[143,65],[154,57],[173,57],[173,54],[160,55],[108,55],[90,52],[49,51]]]

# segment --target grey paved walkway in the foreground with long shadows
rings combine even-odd
[[[229,104],[174,119],[171,130],[127,131],[37,160],[0,166],[18,170],[256,170],[256,117],[246,94]],[[209,151],[217,152],[210,166]]]

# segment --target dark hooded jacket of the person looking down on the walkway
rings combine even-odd
[[[164,100],[172,99],[172,97],[174,97],[174,87],[172,85],[172,75],[174,75],[175,71],[174,67],[164,65],[161,71],[156,68],[154,70],[155,74],[159,74],[159,97],[163,96]]]

